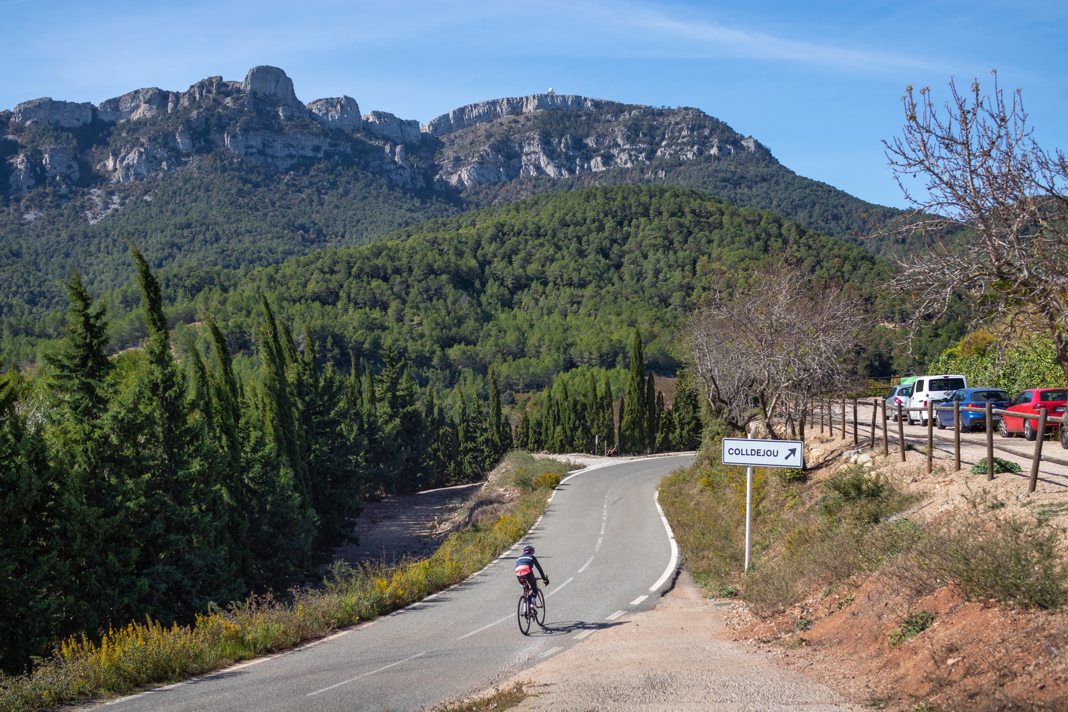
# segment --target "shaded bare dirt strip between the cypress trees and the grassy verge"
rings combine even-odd
[[[368,502],[356,527],[360,543],[339,547],[334,555],[354,565],[429,556],[441,543],[441,536],[435,534],[438,524],[445,522],[480,487],[482,482],[458,485]]]

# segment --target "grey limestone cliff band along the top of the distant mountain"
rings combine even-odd
[[[585,125],[555,136],[545,121],[534,121],[555,112],[581,116]],[[752,137],[696,109],[664,111],[545,93],[468,105],[420,126],[383,111],[361,115],[349,96],[305,105],[285,72],[271,66],[249,69],[240,82],[209,77],[186,92],[145,88],[99,106],[44,97],[4,113],[10,114],[7,138],[22,144],[7,158],[7,189],[23,193],[49,180],[66,193],[82,174],[113,184],[142,180],[213,148],[280,172],[301,161],[345,158],[397,186],[439,190],[758,148],[771,159]],[[23,137],[34,127],[94,126],[101,138],[107,135],[108,145],[77,154],[63,146],[33,146],[32,136]],[[414,156],[420,160],[412,163]],[[79,157],[89,165],[79,167]]]

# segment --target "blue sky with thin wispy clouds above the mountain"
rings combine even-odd
[[[691,106],[787,167],[901,205],[880,139],[905,85],[1022,88],[1068,149],[1065,2],[336,2],[0,0],[0,108],[286,70],[304,101],[348,94],[420,122],[500,96]]]

